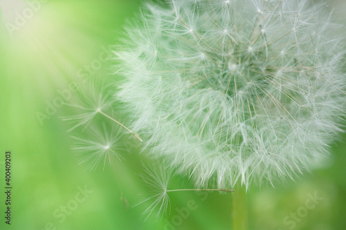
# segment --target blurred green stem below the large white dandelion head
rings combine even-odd
[[[232,230],[246,230],[248,222],[248,209],[246,204],[246,191],[242,186],[232,193]]]

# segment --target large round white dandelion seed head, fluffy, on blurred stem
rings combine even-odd
[[[293,178],[342,131],[345,46],[323,3],[228,3],[149,4],[118,46],[116,96],[152,156],[197,186]]]

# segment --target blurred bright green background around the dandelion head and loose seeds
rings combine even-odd
[[[140,162],[148,161],[138,149],[113,169],[87,171],[71,150],[71,125],[61,118],[73,108],[62,105],[47,117],[37,117],[49,104],[59,104],[59,92],[74,82],[93,76],[116,81],[104,55],[140,4],[0,1],[0,229],[231,229],[230,194],[172,193],[170,213],[159,221],[154,215],[145,221],[141,213],[149,202],[128,209],[120,199],[122,191],[131,206],[150,192],[138,175],[143,171]],[[345,1],[330,5],[345,19]],[[4,218],[6,151],[12,152],[10,226]],[[345,151],[343,135],[320,169],[275,188],[253,186],[248,192],[249,229],[346,229]],[[186,178],[173,178],[170,184],[170,189],[189,187]],[[81,190],[86,190],[82,200]],[[311,195],[320,199],[307,209]],[[186,211],[191,202],[193,209]],[[64,214],[66,206],[72,209]]]

